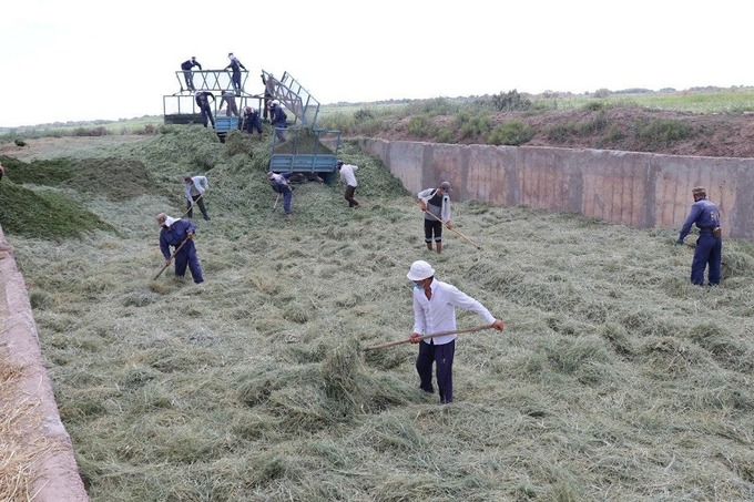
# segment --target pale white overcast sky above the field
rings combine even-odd
[[[287,72],[319,103],[754,85],[754,0],[13,0],[0,127],[162,115],[175,72]],[[255,89],[258,86],[258,89]]]

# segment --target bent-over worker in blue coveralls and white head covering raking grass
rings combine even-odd
[[[194,246],[194,233],[196,227],[191,221],[171,218],[165,213],[157,215],[160,230],[160,250],[165,257],[165,266],[170,265],[171,259],[175,259],[175,277],[183,277],[186,274],[186,266],[191,270],[194,283],[204,281],[202,276],[202,265],[196,256]],[[170,248],[175,248],[174,256],[171,257]]]

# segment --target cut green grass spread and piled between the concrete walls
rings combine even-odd
[[[351,144],[363,207],[307,183],[285,222],[267,147],[165,127],[0,184],[104,225],[53,239],[0,215],[92,501],[752,499],[751,243],[727,239],[723,285],[700,288],[676,229],[469,202],[454,219],[481,250],[446,232],[437,255]],[[200,286],[152,280],[186,173],[210,180]],[[364,350],[409,336],[415,259],[506,322],[460,336],[449,406],[418,390],[415,346]]]

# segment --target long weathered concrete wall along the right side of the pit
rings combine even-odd
[[[448,180],[454,199],[572,211],[633,227],[681,228],[702,185],[723,236],[754,239],[754,158],[607,150],[359,141],[410,192]]]

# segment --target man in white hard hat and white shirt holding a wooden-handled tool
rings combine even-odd
[[[416,370],[419,373],[419,388],[435,392],[432,387],[432,363],[437,369],[437,390],[440,403],[452,402],[452,362],[458,335],[442,335],[421,340],[421,336],[441,331],[455,331],[456,307],[471,310],[498,331],[502,331],[502,320],[496,319],[476,299],[456,286],[437,280],[435,269],[421,259],[411,264],[406,275],[414,283],[414,329],[411,344],[419,344]]]

